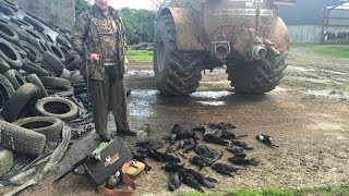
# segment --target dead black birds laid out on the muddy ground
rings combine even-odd
[[[251,166],[256,167],[260,163],[255,158],[248,158],[245,152],[252,150],[253,147],[243,140],[239,140],[239,138],[248,135],[238,135],[236,127],[230,123],[209,123],[186,130],[179,124],[174,124],[171,133],[163,138],[137,142],[132,155],[134,159],[143,162],[146,158],[167,162],[161,168],[170,172],[169,191],[174,191],[181,183],[184,183],[196,191],[204,192],[201,186],[214,188],[217,180],[200,173],[203,168],[209,167],[221,175],[233,176],[239,170],[244,170]],[[272,137],[267,135],[261,134],[256,138],[270,147],[276,147],[272,143]],[[225,151],[233,156],[229,157],[226,163],[218,162],[224,151],[216,150],[208,144],[200,144],[202,140],[209,143],[210,146],[215,145],[215,148],[225,148]],[[191,151],[194,154],[189,154]],[[190,164],[196,166],[198,170],[195,171],[185,167],[188,161],[181,161],[177,157],[178,155],[188,160]],[[191,157],[188,158],[188,156]],[[147,167],[147,169],[149,170],[151,167]]]

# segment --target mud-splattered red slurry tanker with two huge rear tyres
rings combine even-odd
[[[263,94],[284,77],[289,37],[278,3],[167,0],[157,15],[154,71],[165,95],[195,91],[203,70],[227,68],[236,93]]]

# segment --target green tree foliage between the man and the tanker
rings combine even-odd
[[[152,42],[154,40],[155,12],[130,8],[123,8],[119,12],[123,20],[129,44]]]

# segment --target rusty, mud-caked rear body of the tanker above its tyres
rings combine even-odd
[[[282,2],[296,0],[171,0],[159,15],[172,15],[180,51],[210,51],[221,60],[236,51],[249,60],[267,47],[289,50],[287,27],[278,17]]]

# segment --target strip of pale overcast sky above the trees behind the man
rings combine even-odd
[[[94,0],[91,0],[91,2],[94,3]],[[110,4],[116,9],[129,7],[152,10],[152,0],[110,0]]]

